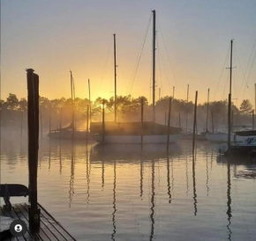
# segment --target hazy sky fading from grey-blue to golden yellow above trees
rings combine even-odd
[[[233,98],[238,98],[237,104],[243,97],[253,98],[256,60],[248,80],[250,91],[245,80],[256,51],[255,0],[2,0],[2,99],[9,92],[26,97],[27,68],[40,76],[41,96],[70,97],[72,69],[76,96],[88,96],[90,78],[92,98],[109,98],[114,91],[113,33],[117,34],[117,94],[152,99],[152,23],[132,88],[131,83],[153,9],[158,23],[157,98],[158,88],[165,96],[176,85],[176,97],[184,99],[190,84],[191,99],[198,90],[200,102],[205,101],[207,88],[211,99],[214,95],[226,99],[229,69],[220,76],[231,39],[235,39],[237,66]]]

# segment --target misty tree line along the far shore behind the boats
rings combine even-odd
[[[169,110],[169,96],[156,101],[155,112],[156,121],[161,124],[167,123]],[[141,99],[144,102],[144,120],[152,120],[152,105],[148,103],[146,97],[132,98],[129,96],[117,96],[117,121],[140,121]],[[74,113],[76,126],[80,129],[86,128],[87,107],[91,107],[91,120],[102,121],[102,103],[105,103],[105,120],[114,120],[115,100],[97,98],[90,103],[88,99],[47,99],[40,97],[40,119],[41,126],[45,131],[66,127],[72,120],[72,103],[74,103]],[[1,128],[16,128],[21,126],[26,128],[26,108],[25,98],[18,99],[15,94],[10,93],[6,100],[0,100]],[[194,104],[184,99],[172,99],[171,125],[183,129],[192,129],[192,115]],[[198,129],[219,131],[227,127],[228,101],[218,100],[209,102],[207,121],[207,102],[198,106]],[[232,104],[233,125],[252,127],[252,103],[249,99],[244,99],[237,107]],[[212,115],[213,114],[213,115]],[[213,120],[213,121],[212,121]]]

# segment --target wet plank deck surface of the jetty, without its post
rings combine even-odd
[[[64,229],[64,227],[56,221],[56,219],[49,214],[49,212],[43,208],[39,203],[37,204],[41,208],[41,225],[37,232],[31,232],[29,230],[28,223],[28,207],[29,203],[12,204],[11,209],[0,207],[0,216],[11,217],[12,219],[20,219],[26,223],[27,232],[23,237],[13,237],[10,235],[1,237],[1,240],[43,240],[43,241],[73,241],[76,240],[72,235]]]

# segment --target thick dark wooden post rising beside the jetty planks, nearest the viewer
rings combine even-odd
[[[27,123],[28,123],[28,170],[29,170],[29,229],[40,228],[40,209],[37,208],[37,164],[39,137],[39,77],[34,69],[26,69]]]

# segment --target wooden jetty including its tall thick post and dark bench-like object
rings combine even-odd
[[[37,166],[39,146],[39,76],[34,69],[26,69],[27,121],[28,121],[28,188],[19,184],[0,185],[1,240],[75,240],[54,217],[37,201]],[[13,177],[15,179],[15,177]],[[29,203],[11,204],[13,196],[28,196]],[[11,235],[10,224],[14,220],[26,223],[27,231],[22,237]]]

